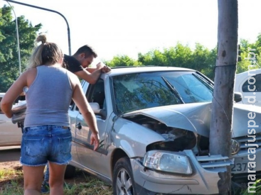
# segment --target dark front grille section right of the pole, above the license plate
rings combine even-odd
[[[238,155],[247,152],[248,148],[256,148],[256,150],[261,150],[261,133],[256,134],[256,141],[254,142],[249,142],[248,140],[253,140],[253,137],[247,137],[247,136],[242,136],[242,137],[236,137],[234,138],[240,143],[240,151]],[[245,145],[247,144],[247,145]],[[257,148],[256,145],[248,145],[248,144],[257,144],[259,147]]]

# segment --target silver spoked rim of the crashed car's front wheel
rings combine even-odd
[[[117,195],[133,195],[131,177],[126,169],[120,169],[117,174]]]

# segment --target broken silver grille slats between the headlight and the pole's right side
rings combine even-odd
[[[226,166],[233,164],[233,158],[229,159],[227,156],[211,155],[211,156],[196,156],[200,165],[208,171],[226,171]]]

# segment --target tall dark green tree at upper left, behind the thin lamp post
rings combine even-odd
[[[34,40],[42,24],[32,26],[23,16],[18,17],[20,54],[22,71],[34,48]],[[6,92],[19,77],[19,59],[16,23],[12,18],[12,8],[0,8],[0,92]]]

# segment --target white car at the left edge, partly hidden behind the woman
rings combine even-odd
[[[5,93],[0,93],[0,101]],[[0,110],[0,146],[20,146],[22,130]]]

